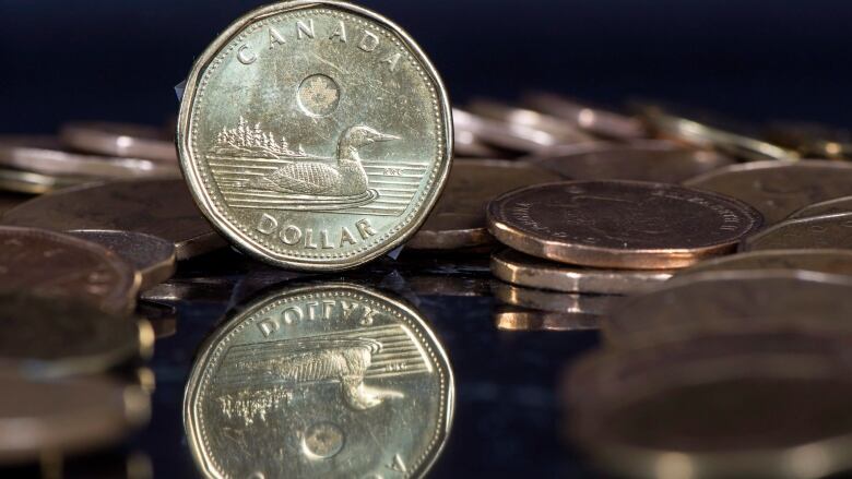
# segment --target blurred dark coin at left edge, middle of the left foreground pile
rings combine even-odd
[[[73,299],[0,295],[0,375],[59,378],[105,372],[147,357],[147,321],[97,310]]]

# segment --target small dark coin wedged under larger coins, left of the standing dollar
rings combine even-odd
[[[175,244],[143,232],[114,229],[84,229],[71,235],[100,244],[121,256],[142,276],[139,289],[144,291],[175,274]]]

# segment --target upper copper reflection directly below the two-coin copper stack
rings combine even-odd
[[[524,288],[502,282],[492,283],[492,294],[504,304],[555,313],[594,315],[608,313],[624,299],[622,296],[614,295],[578,295]]]

